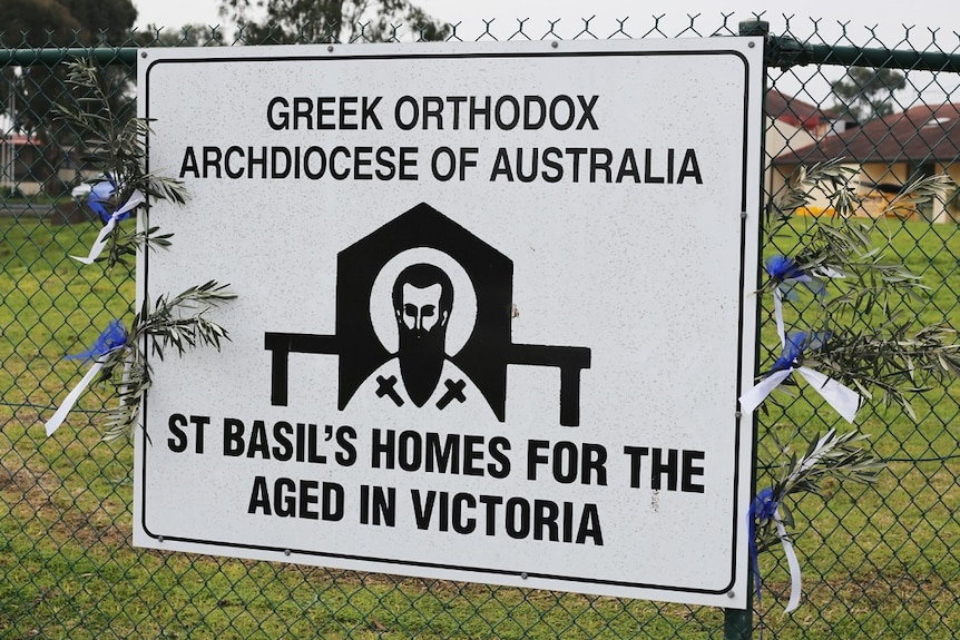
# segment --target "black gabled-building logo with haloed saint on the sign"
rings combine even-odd
[[[560,370],[559,422],[577,426],[590,349],[513,344],[512,289],[507,256],[420,204],[337,255],[334,335],[264,335],[271,402],[287,404],[290,353],[329,354],[339,356],[341,411],[370,393],[386,407],[422,411],[484,402],[503,422],[507,366],[551,366]]]

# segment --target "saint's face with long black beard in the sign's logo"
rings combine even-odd
[[[394,309],[400,332],[400,374],[417,406],[430,400],[443,371],[450,311],[440,306],[442,291],[440,283],[425,287],[403,283],[396,301],[399,308]]]

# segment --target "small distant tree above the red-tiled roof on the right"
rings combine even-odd
[[[893,112],[893,93],[907,86],[907,78],[893,69],[851,67],[830,85],[835,98],[831,109],[841,117],[866,122]]]

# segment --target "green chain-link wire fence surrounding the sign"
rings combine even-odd
[[[557,22],[488,22],[479,37],[470,38],[458,24],[445,36],[513,40],[766,33],[762,23],[741,27],[728,17],[713,24],[689,18],[670,32],[660,18],[616,21],[603,29],[596,20],[582,22],[569,32]],[[813,32],[794,32],[787,21],[780,35],[766,33],[765,199],[776,199],[797,166],[846,158],[859,170],[861,219],[883,238],[886,255],[903,260],[930,287],[920,311],[923,322],[946,318],[960,326],[960,200],[954,196],[878,215],[918,177],[948,173],[960,179],[956,37],[950,42],[939,33],[919,38],[908,29],[902,39],[883,42],[875,28],[860,31],[866,38],[854,38],[846,24],[804,27]],[[0,638],[686,640],[764,632],[782,639],[946,640],[960,629],[956,385],[918,393],[915,420],[897,407],[861,413],[859,422],[872,434],[874,452],[889,465],[874,485],[835,484],[823,499],[805,498],[795,506],[804,599],[790,616],[781,613],[790,580],[778,549],[761,558],[763,597],[746,614],[134,549],[133,451],[128,442],[100,441],[100,398],[84,398],[55,437],[47,439],[41,427],[81,375],[82,365],[62,355],[81,351],[97,327],[130,313],[135,279],[133,267],[104,274],[67,258],[86,252],[99,221],[81,204],[91,176],[77,134],[50,117],[51,105],[67,100],[61,62],[84,55],[109,67],[120,105],[135,93],[134,47],[303,38],[271,40],[267,35],[247,42],[241,32],[229,42],[222,30],[187,30],[139,33],[111,42],[118,48],[101,41],[91,50],[84,48],[88,42],[55,41],[52,35],[37,48],[36,40],[21,36],[7,33],[0,42]],[[415,29],[393,32],[394,39],[419,36]],[[363,40],[363,30],[353,38]],[[329,33],[327,40],[336,38]],[[858,76],[854,68],[869,72]],[[831,87],[837,81],[853,86],[850,108],[836,105]],[[883,117],[874,117],[879,115]],[[830,214],[829,206],[812,203],[797,211],[797,224]],[[766,237],[764,253],[790,255],[795,243],[795,237]],[[772,318],[771,308],[762,313]],[[762,358],[775,358],[775,339],[762,342]],[[832,415],[806,395],[760,415],[757,486],[770,483],[773,469],[764,452],[775,441],[810,441],[834,426]]]

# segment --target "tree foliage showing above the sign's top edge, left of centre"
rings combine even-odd
[[[266,9],[262,22],[251,18],[254,8]],[[239,27],[249,45],[383,42],[396,38],[400,27],[418,39],[443,40],[451,31],[410,0],[221,0],[221,14]]]

